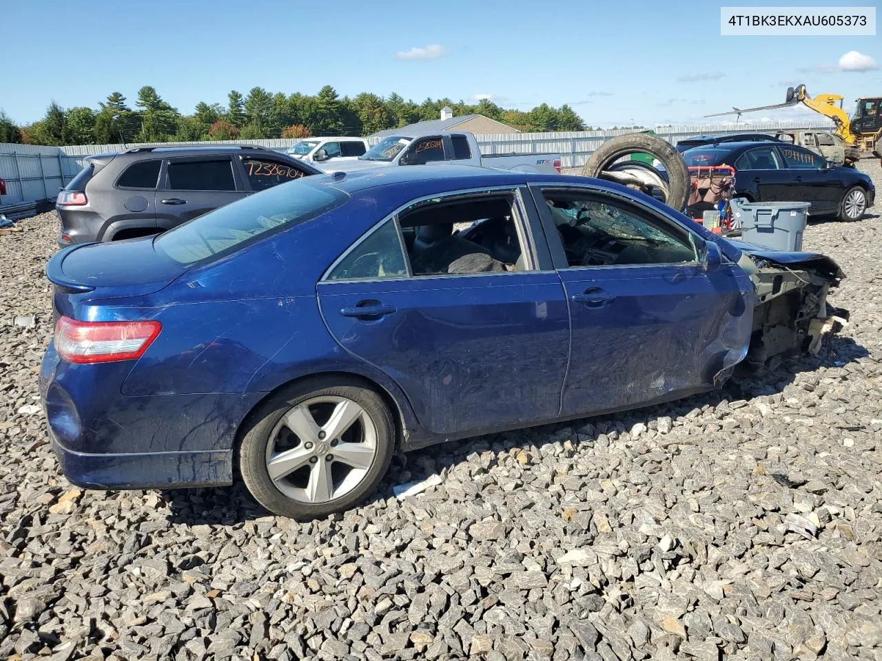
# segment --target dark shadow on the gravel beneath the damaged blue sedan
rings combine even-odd
[[[773,359],[766,367],[744,370],[737,374],[720,390],[612,415],[569,420],[541,427],[525,427],[504,434],[477,436],[408,452],[407,455],[393,457],[385,479],[365,504],[392,498],[392,486],[425,479],[433,472],[449,470],[466,462],[473,452],[482,452],[494,445],[502,445],[506,453],[512,448],[527,449],[532,445],[542,450],[542,446],[546,444],[564,440],[560,435],[564,430],[583,427],[587,422],[593,423],[594,434],[600,433],[598,427],[608,431],[616,428],[621,432],[638,422],[651,423],[663,416],[676,420],[696,409],[720,405],[724,400],[744,400],[750,404],[754,397],[781,392],[796,380],[797,375],[816,372],[821,368],[843,368],[848,363],[869,355],[863,345],[856,344],[852,338],[838,336],[818,355]],[[579,441],[579,444],[594,442],[595,438],[596,435],[589,436]],[[512,442],[512,439],[516,440]],[[495,463],[496,461],[492,461],[490,465]],[[170,509],[169,523],[172,524],[234,525],[273,516],[251,498],[241,479],[236,479],[233,486],[176,489],[163,491],[161,496]],[[333,515],[333,518],[339,520],[341,516],[344,515]]]

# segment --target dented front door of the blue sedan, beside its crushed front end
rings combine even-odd
[[[739,267],[706,272],[697,235],[625,197],[551,186],[534,194],[570,305],[562,415],[706,390],[744,358],[753,289]]]

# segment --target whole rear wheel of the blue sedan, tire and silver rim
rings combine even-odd
[[[255,500],[279,516],[309,519],[348,509],[377,488],[392,461],[392,413],[357,382],[295,383],[251,420],[239,471]]]

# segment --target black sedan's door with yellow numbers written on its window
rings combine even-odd
[[[809,202],[811,213],[835,212],[844,192],[835,168],[827,165],[823,156],[804,147],[778,147],[789,177],[783,200]]]

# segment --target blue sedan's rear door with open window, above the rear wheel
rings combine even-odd
[[[435,197],[375,227],[318,283],[333,337],[391,376],[431,433],[453,438],[557,417],[567,303],[536,252],[519,255],[523,217],[517,189]],[[399,218],[415,228],[413,245]],[[486,224],[466,234],[475,221]],[[547,251],[542,259],[549,266]]]

